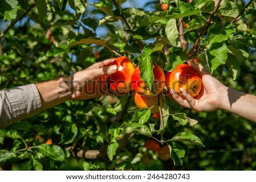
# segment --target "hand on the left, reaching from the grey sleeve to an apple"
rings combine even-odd
[[[109,66],[115,58],[97,62],[85,70],[79,71],[73,75],[71,82],[73,92],[71,93],[72,100],[91,99],[101,95],[113,94],[107,89],[107,75],[117,71],[117,65]]]

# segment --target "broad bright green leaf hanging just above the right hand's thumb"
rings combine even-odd
[[[211,73],[213,73],[218,66],[224,65],[228,58],[228,48],[225,43],[213,44],[210,49],[207,49],[206,53]]]

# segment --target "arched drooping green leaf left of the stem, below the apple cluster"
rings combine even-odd
[[[147,137],[152,137],[150,129],[146,125],[135,123],[135,122],[128,123],[125,126],[123,126],[122,134],[130,134],[130,133],[142,134]]]

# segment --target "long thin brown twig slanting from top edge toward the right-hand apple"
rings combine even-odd
[[[212,12],[212,14],[210,14],[210,17],[206,20],[205,24],[204,24],[204,27],[202,29],[202,31],[200,32],[200,35],[198,37],[198,39],[196,40],[195,44],[192,46],[192,48],[189,50],[188,52],[188,57],[191,56],[191,54],[193,53],[193,51],[197,48],[197,46],[199,45],[200,43],[200,39],[201,39],[201,36],[204,35],[204,32],[207,30],[207,28],[209,27],[210,23],[212,22],[212,18],[213,16],[216,14],[216,11],[218,10],[218,7],[220,7],[220,3],[221,3],[222,0],[218,0],[218,2],[216,3],[216,6]]]

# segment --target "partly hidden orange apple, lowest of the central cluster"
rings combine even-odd
[[[148,98],[141,94],[138,94],[137,91],[134,91],[133,99],[139,109],[142,109],[142,108],[149,109],[152,107],[151,108],[152,114],[159,112],[158,95]]]

